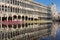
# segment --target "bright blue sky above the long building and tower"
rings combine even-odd
[[[36,2],[42,3],[44,5],[49,5],[51,4],[51,2],[53,2],[54,4],[56,4],[57,7],[57,11],[60,12],[60,0],[34,0]]]

